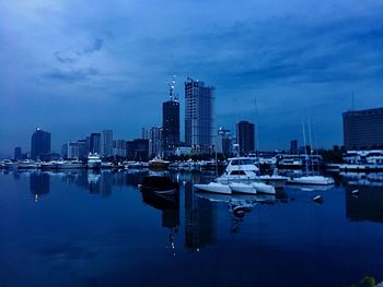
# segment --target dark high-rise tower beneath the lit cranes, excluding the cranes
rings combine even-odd
[[[171,98],[162,104],[162,142],[165,150],[179,144],[179,101]]]

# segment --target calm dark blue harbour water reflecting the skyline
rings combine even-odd
[[[380,183],[353,178],[327,190],[285,187],[276,198],[254,198],[242,217],[230,195],[193,191],[212,174],[172,174],[179,182],[172,207],[142,196],[144,175],[1,174],[0,286],[350,286],[365,275],[383,279]]]

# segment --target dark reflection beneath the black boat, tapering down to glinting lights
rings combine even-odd
[[[141,190],[141,195],[144,203],[162,212],[162,227],[170,230],[167,249],[175,256],[175,236],[179,227],[179,190],[169,194]]]

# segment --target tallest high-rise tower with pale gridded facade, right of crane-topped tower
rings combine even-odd
[[[202,81],[185,82],[185,144],[196,153],[211,153],[213,145],[214,87]]]

